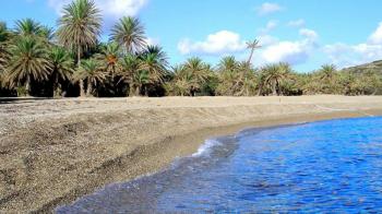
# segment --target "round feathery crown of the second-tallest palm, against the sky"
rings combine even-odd
[[[135,17],[122,17],[111,29],[111,39],[124,48],[126,52],[136,54],[146,46],[144,27]]]

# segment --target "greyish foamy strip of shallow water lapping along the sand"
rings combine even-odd
[[[330,119],[317,122],[327,122],[335,120],[348,120],[344,119]],[[112,212],[110,206],[106,204],[134,204],[136,201],[144,201],[145,204],[136,204],[136,207],[130,207],[131,210],[151,211],[155,207],[156,201],[153,201],[153,189],[155,194],[160,194],[166,189],[167,182],[177,182],[177,178],[180,179],[189,174],[198,173],[198,170],[206,170],[208,167],[214,167],[222,162],[225,162],[237,150],[237,138],[244,136],[246,134],[256,134],[264,130],[279,129],[285,127],[302,126],[311,122],[296,122],[283,126],[273,126],[265,128],[246,128],[237,132],[234,135],[219,136],[206,140],[198,150],[196,153],[182,158],[175,159],[169,167],[157,171],[155,174],[141,176],[134,180],[120,183],[111,183],[105,186],[103,189],[96,192],[85,195],[70,205],[63,205],[56,209],[57,213],[71,213],[77,211],[76,209],[88,207],[98,213]],[[171,179],[168,179],[168,178]],[[159,185],[158,185],[159,183]],[[150,199],[148,199],[150,198]],[[122,200],[122,201],[121,201]],[[88,205],[86,205],[88,204]],[[97,206],[94,206],[97,204]],[[81,205],[81,206],[80,206]],[[108,210],[103,210],[108,207]],[[118,207],[116,207],[118,209]],[[154,210],[152,210],[154,211]]]

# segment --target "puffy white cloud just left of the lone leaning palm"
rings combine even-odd
[[[240,35],[229,31],[220,31],[211,34],[203,41],[191,41],[186,38],[178,44],[178,50],[182,55],[223,55],[240,52],[246,49],[246,41]]]

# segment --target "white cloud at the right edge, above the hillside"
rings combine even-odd
[[[382,58],[382,23],[366,43],[326,45],[323,47],[323,51],[327,54],[333,63],[341,68],[380,60]]]

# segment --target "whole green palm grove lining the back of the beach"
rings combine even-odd
[[[100,43],[100,11],[91,0],[65,5],[58,28],[25,19],[0,23],[0,96],[262,96],[382,93],[374,71],[337,71],[325,64],[297,73],[288,63],[262,68],[224,57],[215,67],[200,58],[169,67],[159,46],[146,44],[142,23],[120,19]]]

